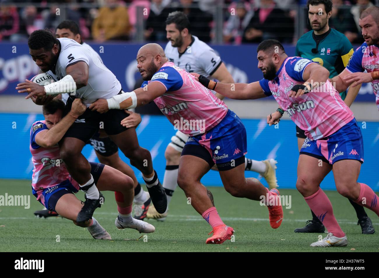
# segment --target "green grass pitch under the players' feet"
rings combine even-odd
[[[0,206],[0,251],[7,252],[378,252],[379,219],[366,209],[377,232],[362,235],[357,217],[348,200],[337,191],[326,191],[342,229],[348,236],[347,247],[312,248],[318,234],[299,234],[293,230],[303,227],[310,219],[310,210],[296,190],[282,189],[282,195],[291,196],[291,208],[284,208],[282,225],[274,230],[268,222],[268,210],[259,202],[230,196],[222,187],[209,187],[215,205],[225,224],[235,229],[235,241],[221,245],[206,245],[210,225],[187,204],[183,191],[178,188],[170,204],[169,216],[164,222],[149,219],[155,232],[140,238],[136,230],[117,230],[117,216],[113,192],[103,192],[105,204],[94,217],[112,236],[111,241],[95,240],[86,228],[75,226],[61,217],[37,219],[35,210],[42,205],[31,195],[30,181],[0,180],[0,195],[30,195],[30,208]],[[146,190],[146,189],[145,189]],[[83,193],[78,197],[84,199]],[[57,235],[60,242],[56,242]],[[321,235],[323,237],[326,234]],[[147,241],[146,241],[147,239]],[[353,249],[353,250],[352,250]]]

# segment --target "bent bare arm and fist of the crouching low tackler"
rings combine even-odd
[[[44,148],[50,148],[58,144],[69,127],[74,123],[78,116],[85,112],[86,109],[87,107],[81,102],[81,99],[75,99],[72,103],[70,112],[64,116],[62,120],[50,129],[42,130],[36,135],[36,143]],[[53,123],[46,120],[46,124],[49,126]]]

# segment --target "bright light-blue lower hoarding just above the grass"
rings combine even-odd
[[[42,114],[0,113],[0,179],[31,179],[33,163],[29,150],[30,127],[37,120],[43,120]],[[247,131],[247,155],[255,160],[274,158],[277,163],[279,188],[296,188],[296,168],[298,165],[298,145],[295,136],[295,125],[290,120],[280,121],[278,128],[268,126],[265,119],[242,120]],[[379,123],[359,122],[365,147],[359,181],[379,191],[379,176],[376,163],[379,150]],[[142,116],[142,122],[136,129],[139,144],[150,151],[153,166],[163,181],[166,161],[164,150],[174,135],[172,124],[162,116]],[[93,162],[98,162],[94,149],[86,145],[83,155]],[[120,157],[129,160],[119,151]],[[137,179],[143,183],[141,173],[133,168]],[[310,169],[312,171],[312,169]],[[246,177],[258,177],[255,172],[245,172]],[[218,172],[210,171],[201,180],[207,186],[222,186]],[[267,186],[264,179],[261,180]],[[323,189],[335,190],[332,173],[321,183]]]

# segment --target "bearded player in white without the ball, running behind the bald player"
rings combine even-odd
[[[196,36],[191,35],[190,23],[183,12],[175,11],[169,14],[166,20],[166,32],[169,42],[164,49],[164,53],[166,53],[169,62],[173,62],[189,73],[195,72],[224,83],[234,82],[232,75],[230,75],[215,50]],[[216,96],[219,99],[224,98],[218,93],[216,93]],[[168,205],[177,187],[180,155],[187,139],[188,135],[178,130],[171,137],[171,142],[164,152],[166,171],[164,172],[163,188],[166,191]],[[272,189],[277,187],[276,163],[274,159],[257,161],[245,157],[245,170],[261,174],[266,179],[269,188]],[[218,171],[216,165],[212,169]],[[208,192],[208,194],[211,193]],[[210,198],[213,199],[211,195]],[[168,206],[163,214],[158,213],[154,206],[150,206],[147,211],[147,218],[164,220],[167,215]]]

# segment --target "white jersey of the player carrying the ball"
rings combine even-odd
[[[88,83],[77,89],[75,97],[83,99],[88,107],[99,98],[111,98],[121,90],[121,84],[116,76],[105,67],[92,49],[72,39],[60,38],[60,53],[55,66],[55,76],[58,80],[67,75],[66,68],[77,62],[85,62],[89,68]],[[95,54],[96,53],[96,54]]]

